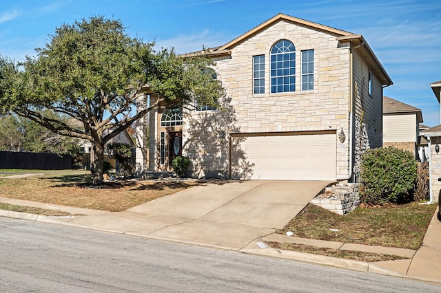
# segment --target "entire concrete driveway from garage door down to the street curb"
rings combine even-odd
[[[72,224],[240,249],[283,228],[326,181],[214,182]]]

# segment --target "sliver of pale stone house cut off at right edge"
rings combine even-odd
[[[440,102],[441,81],[431,83],[431,88],[435,94],[438,102]],[[441,109],[441,103],[440,103]],[[440,110],[441,119],[441,110]],[[429,186],[430,186],[430,201],[438,202],[438,196],[441,193],[441,125],[431,127],[424,130],[424,136],[427,138],[429,144]]]

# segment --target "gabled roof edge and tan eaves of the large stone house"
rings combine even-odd
[[[361,34],[353,34],[351,32],[346,32],[344,30],[338,30],[336,28],[331,28],[327,25],[321,25],[320,23],[314,23],[312,21],[305,21],[305,19],[298,19],[296,17],[291,17],[287,14],[279,13],[275,17],[271,17],[264,23],[260,23],[260,25],[256,26],[252,30],[245,32],[245,34],[241,34],[236,39],[229,41],[225,45],[221,45],[219,47],[209,48],[207,50],[201,50],[198,52],[192,52],[188,54],[183,54],[184,57],[187,56],[200,56],[205,55],[210,57],[216,56],[231,56],[232,48],[236,45],[243,43],[243,41],[251,38],[252,36],[258,34],[259,32],[269,28],[271,25],[278,23],[279,21],[286,21],[287,23],[300,25],[303,27],[311,28],[313,30],[318,30],[321,32],[325,32],[327,34],[331,34],[336,36],[336,40],[340,43],[351,43],[352,50],[357,50],[360,53],[362,58],[365,59],[369,69],[375,76],[377,76],[378,80],[382,85],[392,85],[392,80],[387,74],[384,67],[382,67],[378,58],[373,54],[371,47],[367,44],[367,41]]]

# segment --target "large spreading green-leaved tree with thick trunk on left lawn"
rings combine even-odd
[[[157,105],[213,105],[220,82],[205,74],[205,57],[181,58],[155,51],[125,33],[121,21],[91,17],[63,24],[36,56],[15,63],[0,56],[0,111],[92,142],[94,184],[103,181],[104,145]],[[158,95],[155,105],[136,109],[141,91]],[[81,121],[74,127],[45,111]],[[106,131],[107,130],[107,131]]]

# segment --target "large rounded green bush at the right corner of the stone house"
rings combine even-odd
[[[394,147],[368,149],[362,156],[360,197],[368,204],[407,202],[417,179],[413,154]]]

